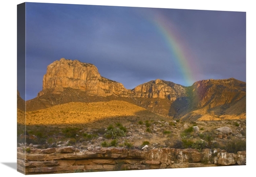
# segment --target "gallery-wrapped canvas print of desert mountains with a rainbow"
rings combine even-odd
[[[17,5],[17,171],[246,165],[246,12]]]

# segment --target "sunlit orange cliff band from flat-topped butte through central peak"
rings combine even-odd
[[[127,90],[121,83],[102,77],[96,66],[92,64],[61,58],[48,65],[43,78],[42,91],[38,96],[44,95],[47,90],[60,94],[65,88],[86,91],[88,95],[150,97],[170,101],[175,101],[177,97],[185,96],[186,93],[184,86],[159,79],[139,85],[133,90]]]

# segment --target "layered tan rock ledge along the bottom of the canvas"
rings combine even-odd
[[[100,148],[79,150],[73,147],[30,149],[17,148],[17,170],[26,174],[87,171],[142,170],[162,168],[214,167],[246,165],[246,151],[238,154],[221,149],[151,150]]]

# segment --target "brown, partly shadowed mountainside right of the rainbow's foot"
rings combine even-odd
[[[245,82],[234,78],[198,81],[187,88],[187,95],[187,106],[176,114],[182,119],[195,117],[195,120],[209,121],[246,117]]]

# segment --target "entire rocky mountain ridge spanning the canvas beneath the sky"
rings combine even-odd
[[[177,119],[246,117],[246,83],[235,78],[203,80],[189,87],[157,79],[126,89],[102,77],[96,66],[65,58],[47,67],[42,90],[26,102],[26,108],[32,111],[69,102],[110,100],[130,102]]]

